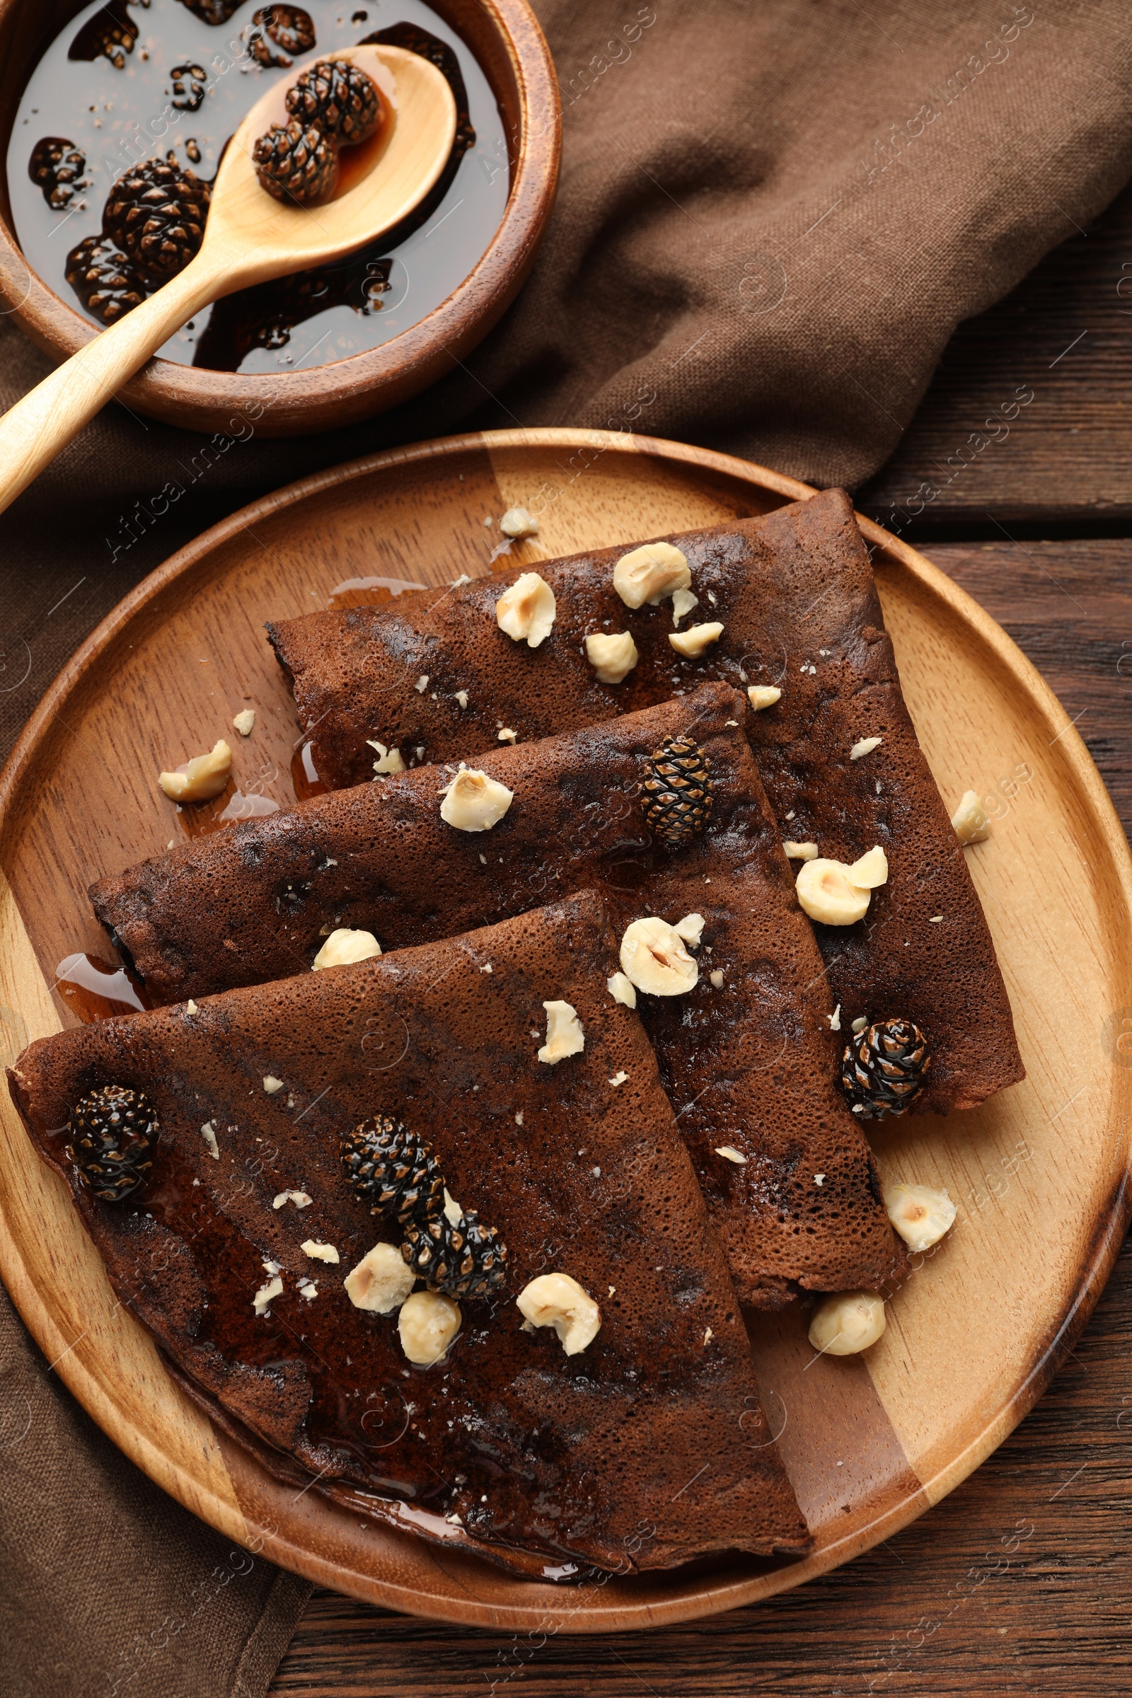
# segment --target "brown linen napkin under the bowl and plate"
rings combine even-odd
[[[107,408],[2,521],[0,751],[165,555],[255,496],[373,448],[589,424],[859,484],[891,453],[954,326],[1132,171],[1120,0],[536,10],[565,151],[519,301],[465,367],[385,418],[305,440],[229,438],[131,548],[122,521],[200,438]],[[48,370],[0,318],[0,406]],[[0,1691],[85,1698],[114,1690],[119,1669],[117,1691],[158,1698],[265,1691],[305,1588],[256,1557],[151,1654],[193,1586],[233,1569],[229,1545],[117,1455],[3,1294],[0,1348]],[[127,1679],[119,1657],[137,1645]]]

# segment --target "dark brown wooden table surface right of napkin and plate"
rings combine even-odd
[[[1130,319],[1132,190],[1008,301],[961,326],[893,460],[857,498],[923,547],[1034,659],[1078,717],[1125,829]],[[59,574],[58,589],[53,574],[29,586],[36,606],[25,637],[46,655],[53,601],[71,593],[64,562]],[[100,596],[114,599],[122,586],[88,588],[93,625],[107,611]],[[1098,1027],[1107,1012],[1098,1010]],[[1125,1245],[1066,1367],[996,1455],[889,1543],[771,1603],[655,1633],[550,1639],[535,1649],[316,1591],[272,1693],[1127,1693],[1130,1333]],[[1008,1560],[988,1564],[1003,1535],[1013,1535]]]

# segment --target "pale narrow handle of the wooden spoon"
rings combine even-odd
[[[0,418],[0,513],[175,329],[222,294],[219,270],[204,253],[197,255]]]

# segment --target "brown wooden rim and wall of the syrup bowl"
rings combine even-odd
[[[331,365],[283,372],[265,399],[261,375],[210,372],[171,360],[149,363],[120,392],[136,413],[187,430],[226,430],[233,414],[263,406],[256,431],[295,436],[336,430],[407,401],[453,370],[518,294],[550,217],[558,182],[562,112],[550,49],[526,0],[429,0],[479,59],[509,138],[511,192],[499,229],[460,287],[380,348]],[[81,0],[0,0],[0,158],[27,78]],[[12,228],[0,171],[0,295],[31,340],[66,360],[98,335],[27,265]]]

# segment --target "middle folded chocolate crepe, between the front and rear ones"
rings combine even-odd
[[[837,1082],[842,1039],[810,922],[742,730],[704,684],[563,737],[496,745],[513,791],[482,832],[441,818],[455,767],[416,767],[248,820],[92,886],[151,995],[305,971],[339,927],[382,949],[453,936],[597,886],[618,939],[645,915],[703,917],[698,981],[636,992],[665,1090],[747,1302],[876,1285],[893,1262],[869,1146]],[[711,810],[682,846],[648,830],[642,779],[665,739],[706,756]],[[725,1150],[726,1155],[720,1155]]]

